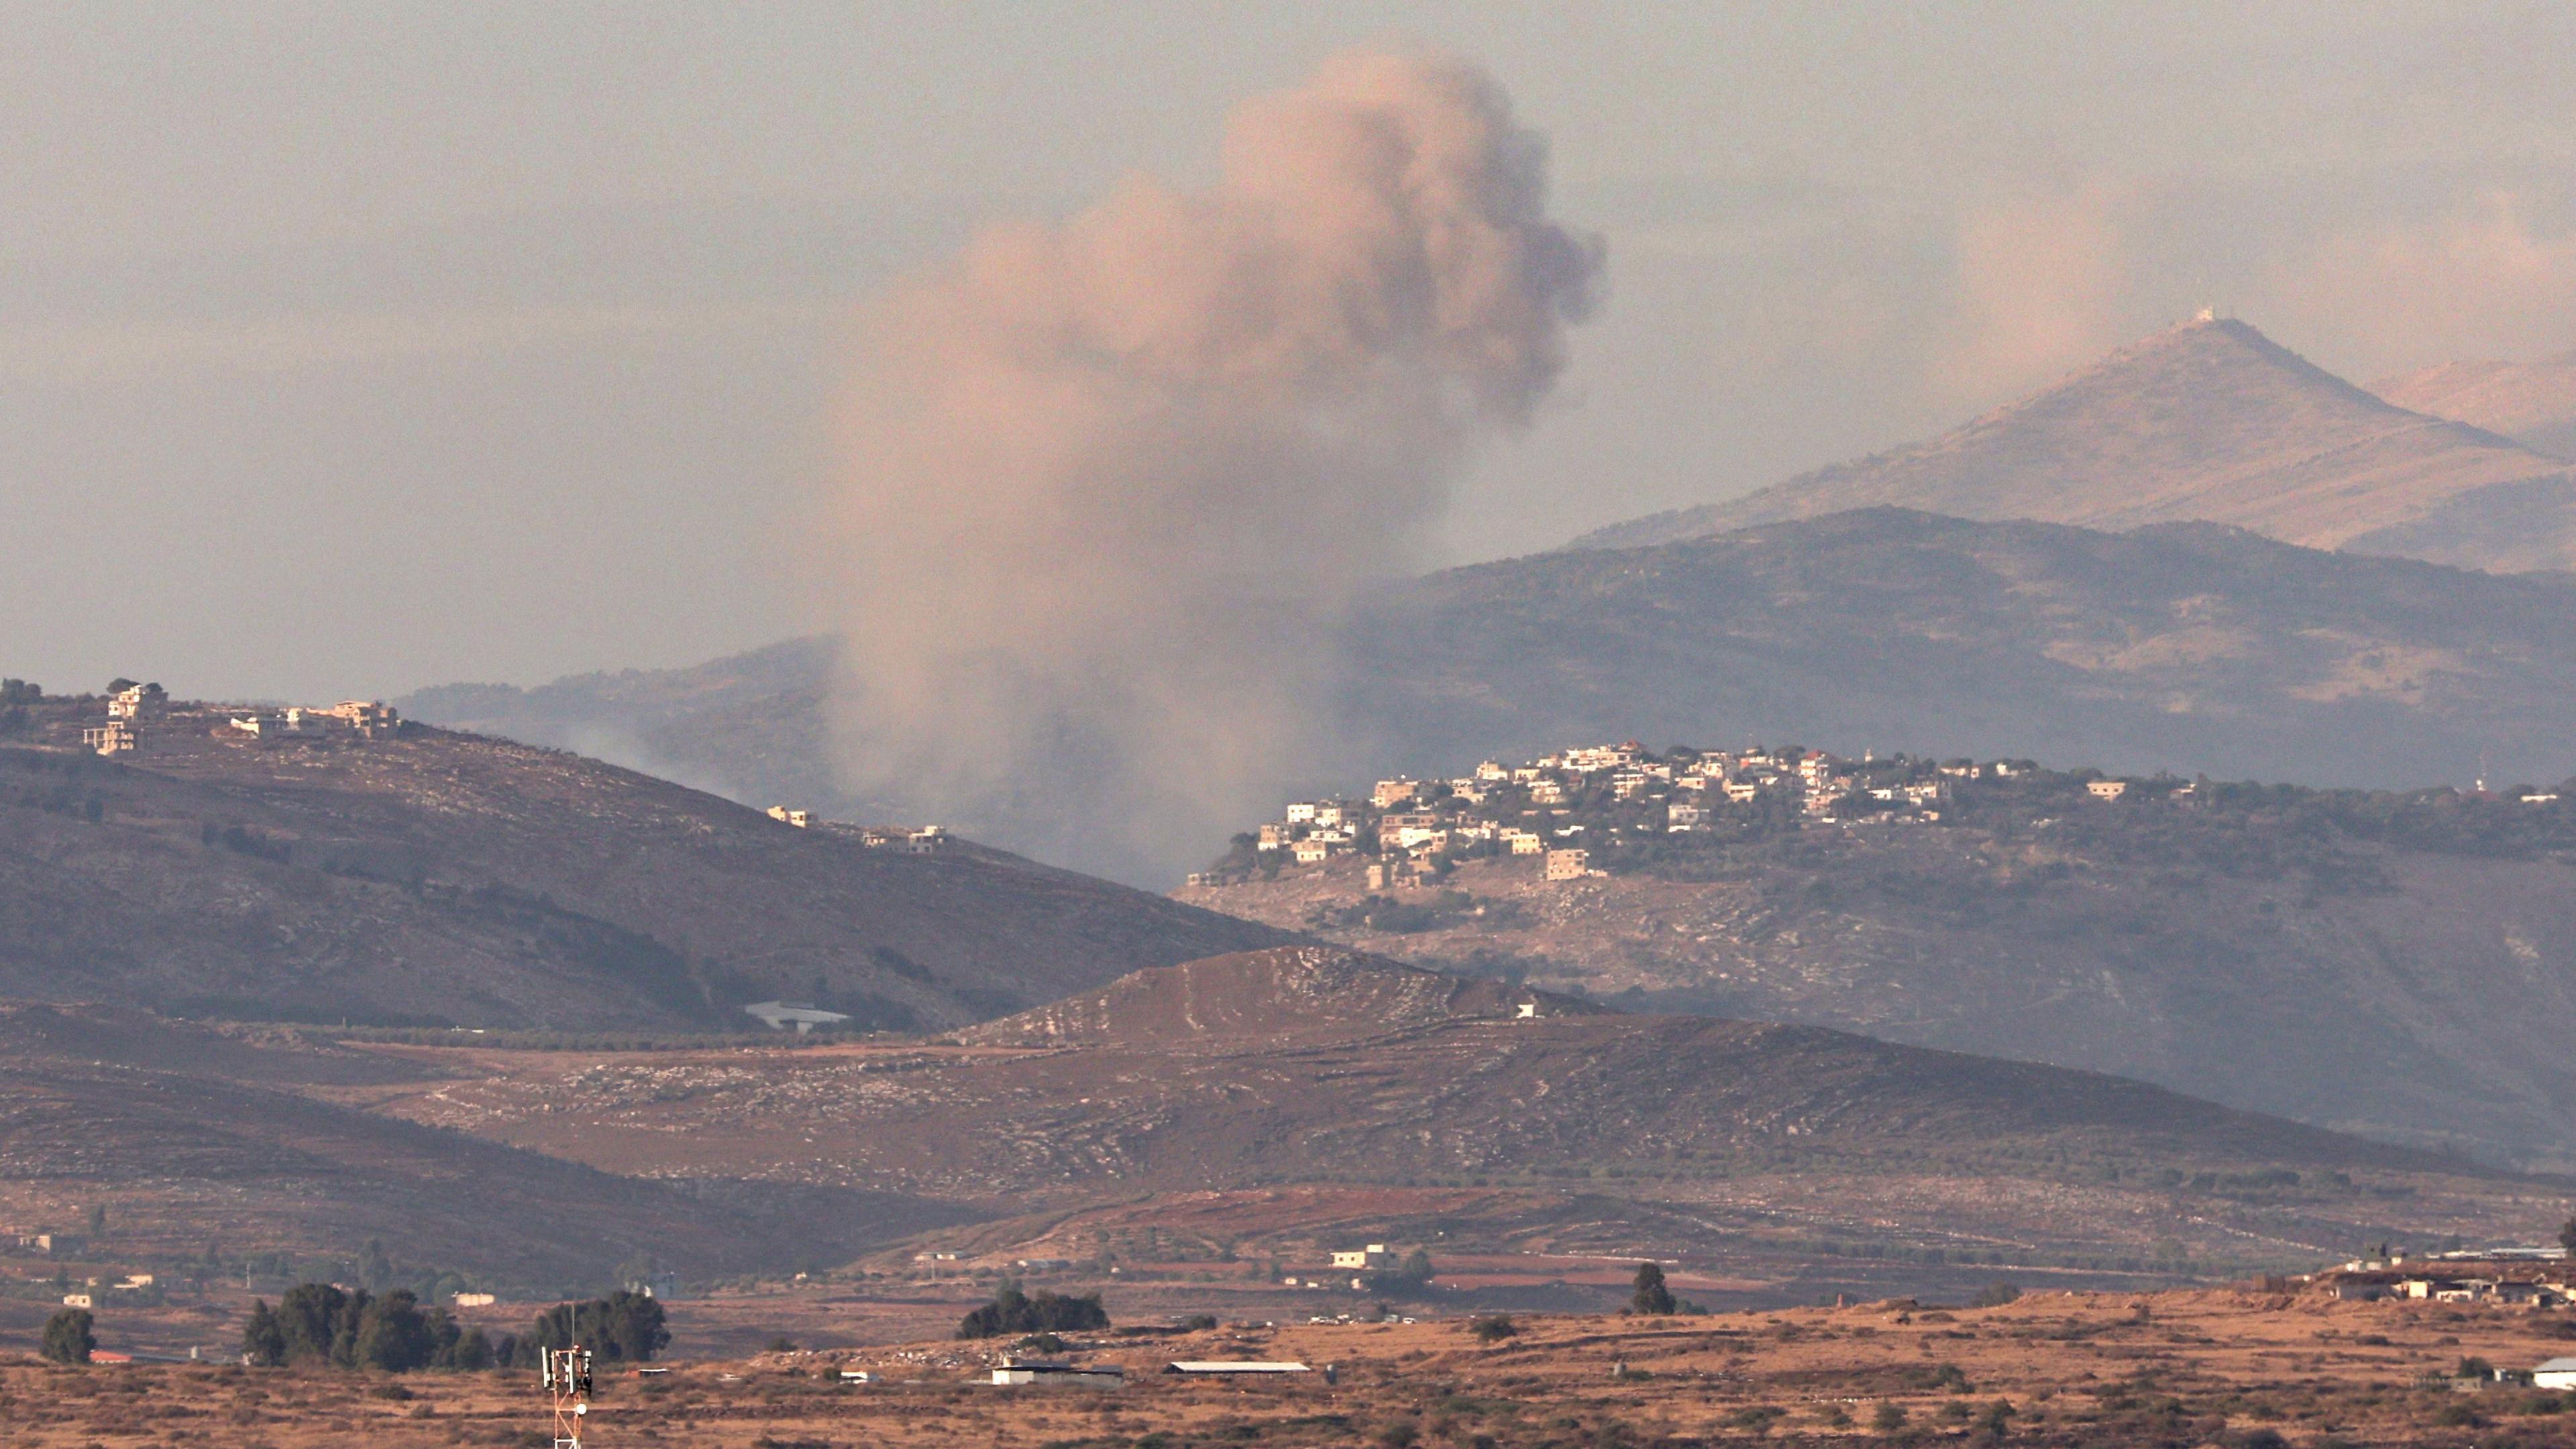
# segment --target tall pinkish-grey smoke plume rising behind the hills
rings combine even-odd
[[[1600,248],[1473,64],[1345,54],[1206,191],[894,294],[850,400],[850,792],[1167,879],[1329,761],[1334,629],[1530,420]]]

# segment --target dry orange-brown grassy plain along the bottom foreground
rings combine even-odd
[[[1520,1315],[1097,1336],[1121,1387],[994,1387],[992,1346],[925,1338],[603,1374],[590,1449],[1425,1444],[1432,1449],[1862,1441],[2566,1444],[2563,1395],[2452,1392],[2463,1356],[2532,1366],[2563,1315],[2331,1305],[2316,1294],[2025,1294],[1991,1310],[1868,1305],[1713,1318]],[[680,1356],[688,1359],[683,1333]],[[1293,1359],[1283,1379],[1182,1379],[1175,1359]],[[842,1366],[881,1377],[848,1385]],[[2427,1377],[2434,1377],[2427,1385]],[[1893,1408],[1888,1408],[1893,1405]],[[2002,1405],[2002,1413],[1999,1413]],[[8,1366],[23,1449],[538,1444],[533,1374]],[[1888,1415],[1888,1418],[1883,1418]],[[1886,1426],[1901,1421],[1896,1426]]]

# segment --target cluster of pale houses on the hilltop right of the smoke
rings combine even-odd
[[[1860,804],[1878,820],[1942,817],[1960,779],[2035,773],[2022,761],[1847,761],[1824,750],[1667,750],[1628,740],[1556,750],[1538,761],[1484,761],[1458,779],[1381,779],[1368,799],[1301,799],[1249,841],[1257,856],[1321,866],[1368,856],[1368,887],[1417,879],[1445,856],[1530,856],[1546,879],[1600,874],[1592,843],[1605,830],[1687,835],[1710,830],[1728,807],[1772,799],[1811,820],[1834,820]],[[2092,781],[2094,799],[2120,799],[2128,781]],[[2190,789],[2190,786],[2182,786]],[[1587,807],[1631,807],[1618,825],[1569,820]],[[1595,835],[1592,843],[1584,838]],[[1190,884],[1231,884],[1216,869]]]

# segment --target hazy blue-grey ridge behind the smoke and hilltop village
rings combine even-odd
[[[2576,773],[2576,585],[2300,549],[1860,511],[1394,588],[1350,634],[1347,773],[1458,773],[1564,740],[1806,743],[2401,789]],[[484,691],[433,719],[623,732],[683,779],[811,802],[827,639],[693,670]],[[495,706],[502,704],[505,709]],[[765,717],[750,743],[734,724]],[[809,740],[811,753],[778,740]],[[1321,789],[1327,781],[1314,781]],[[1216,841],[1206,846],[1216,851]]]

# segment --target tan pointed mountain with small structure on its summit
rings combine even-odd
[[[2115,531],[2213,521],[2494,572],[2576,567],[2576,474],[2563,459],[2409,413],[2244,322],[2208,317],[1927,443],[1613,523],[1574,547],[1878,505]]]

